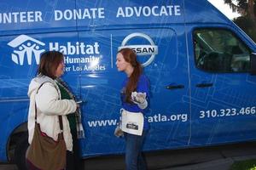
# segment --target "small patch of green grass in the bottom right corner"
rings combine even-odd
[[[235,161],[230,170],[256,170],[256,160]]]

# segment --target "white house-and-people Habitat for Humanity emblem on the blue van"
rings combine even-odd
[[[8,45],[15,48],[12,53],[12,60],[17,65],[23,65],[25,59],[28,65],[32,65],[32,57],[39,64],[40,54],[44,52],[44,49],[40,49],[40,46],[44,46],[45,44],[32,37],[20,35],[9,42]]]

